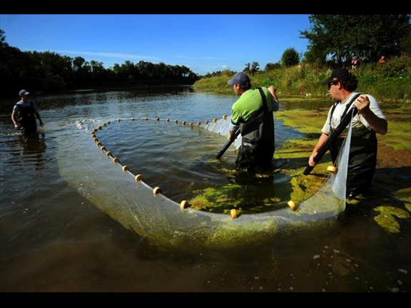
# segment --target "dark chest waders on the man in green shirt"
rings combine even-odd
[[[263,107],[255,111],[245,123],[240,123],[242,142],[235,165],[244,171],[269,168],[274,155],[274,119],[268,111],[267,98],[258,87]]]

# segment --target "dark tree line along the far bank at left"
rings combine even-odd
[[[125,61],[112,68],[45,51],[20,51],[9,46],[0,29],[0,97],[13,97],[21,88],[58,93],[87,88],[126,88],[158,84],[193,84],[200,76],[186,66]]]

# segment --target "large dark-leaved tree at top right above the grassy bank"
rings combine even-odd
[[[410,14],[397,15],[317,15],[309,16],[311,30],[300,31],[308,39],[305,60],[349,65],[352,56],[363,63],[375,62],[380,56],[397,57],[402,40],[410,33]]]

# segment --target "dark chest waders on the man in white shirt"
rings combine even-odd
[[[360,96],[358,94],[357,96]],[[344,114],[347,109],[355,101],[357,96],[351,99],[351,102],[345,108]],[[330,114],[333,117],[333,110]],[[330,135],[333,133],[333,128],[330,128]],[[331,146],[331,158],[333,163],[337,159],[338,153],[344,137],[337,138],[335,143]],[[348,168],[347,168],[347,192],[352,192],[353,190],[367,190],[370,188],[372,178],[374,177],[375,168],[377,165],[377,135],[374,130],[368,130],[365,126],[360,128],[352,128],[351,132],[351,145],[350,145],[350,155],[348,158]]]

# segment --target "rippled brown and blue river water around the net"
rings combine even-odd
[[[98,131],[103,145],[171,200],[235,183],[231,197],[244,209],[285,207],[290,178],[280,166],[273,163],[268,180],[233,175],[227,172],[234,169],[233,150],[213,161],[223,136],[181,125],[229,115],[235,96],[181,86],[32,99],[44,120],[36,138],[14,130],[14,101],[0,104],[1,292],[411,291],[409,220],[405,232],[392,235],[370,208],[355,207],[322,227],[288,229],[250,249],[189,253],[129,230],[110,209],[96,206],[88,197],[93,190],[77,185],[76,176],[79,182],[88,177],[83,162],[93,165],[103,155],[91,131],[110,121]],[[276,148],[301,136],[275,120]],[[101,170],[102,178],[111,176],[110,168]],[[112,194],[104,183],[96,192]]]

